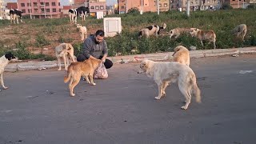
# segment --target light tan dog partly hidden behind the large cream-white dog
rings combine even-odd
[[[184,46],[174,48],[174,62],[179,62],[183,65],[190,66],[190,51]]]

